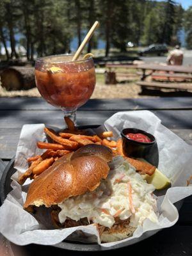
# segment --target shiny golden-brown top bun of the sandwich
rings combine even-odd
[[[29,205],[60,204],[70,196],[95,190],[109,173],[110,148],[90,144],[67,154],[52,164],[29,186],[24,208]]]

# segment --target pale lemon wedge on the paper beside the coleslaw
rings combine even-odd
[[[153,175],[143,175],[143,179],[147,180],[147,183],[153,184],[156,189],[164,189],[171,184],[170,180],[157,168]]]

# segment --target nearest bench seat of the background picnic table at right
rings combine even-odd
[[[136,84],[140,85],[141,88],[149,89],[175,89],[175,90],[192,90],[192,83],[156,83],[156,82],[146,82],[139,81]]]

